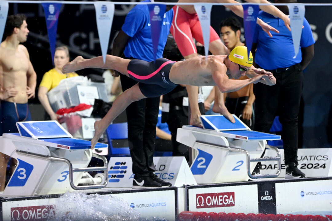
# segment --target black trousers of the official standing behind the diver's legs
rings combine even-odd
[[[138,83],[125,75],[120,75],[120,78],[123,91]],[[145,98],[131,103],[126,108],[129,150],[135,178],[149,176],[156,170],[153,152],[159,101],[160,96]]]

